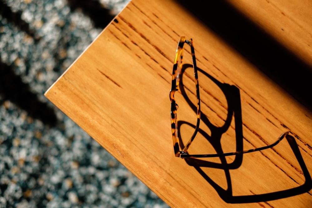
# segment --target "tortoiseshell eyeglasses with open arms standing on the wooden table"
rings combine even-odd
[[[197,97],[197,121],[196,126],[194,129],[194,133],[192,137],[188,140],[184,148],[180,149],[179,144],[179,138],[178,138],[178,120],[177,120],[177,110],[178,110],[178,104],[176,103],[176,100],[174,98],[174,94],[176,91],[179,90],[179,81],[180,81],[180,74],[182,71],[182,60],[183,60],[183,46],[184,44],[187,44],[191,47],[191,57],[193,61],[193,70],[194,70],[194,77],[195,77],[195,88],[196,88],[196,97]],[[260,147],[260,148],[254,148],[249,150],[242,150],[242,151],[236,151],[236,152],[227,152],[227,153],[220,153],[220,154],[189,154],[188,148],[192,144],[193,140],[195,139],[198,129],[199,129],[199,123],[200,123],[200,96],[199,96],[199,84],[198,84],[198,73],[197,73],[197,65],[196,65],[196,58],[195,58],[195,51],[194,51],[194,45],[193,40],[189,39],[186,40],[184,36],[180,38],[180,41],[178,43],[178,48],[176,51],[174,64],[173,64],[173,72],[172,72],[172,84],[171,84],[171,90],[170,90],[170,102],[171,102],[171,132],[172,132],[172,140],[173,140],[173,149],[174,154],[176,157],[181,158],[203,158],[203,157],[223,157],[223,156],[231,156],[231,155],[239,155],[239,154],[245,154],[248,152],[256,152],[268,148],[272,148],[275,145],[277,145],[283,138],[285,138],[286,135],[289,134],[289,132],[282,133],[278,139],[267,146]]]

